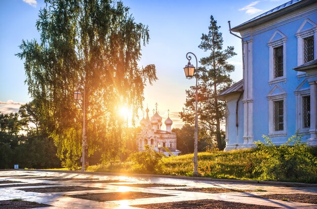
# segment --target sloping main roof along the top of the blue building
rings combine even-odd
[[[248,27],[253,27],[256,25],[260,25],[264,22],[267,22],[269,20],[272,20],[276,17],[280,17],[282,15],[285,15],[289,12],[292,12],[294,10],[300,9],[302,7],[305,7],[307,5],[316,3],[316,0],[292,0],[289,1],[279,7],[275,7],[272,10],[269,10],[255,18],[252,18],[251,20],[248,20],[247,22],[244,22],[238,26],[235,26],[232,28],[232,31],[239,32],[240,30],[246,29]]]

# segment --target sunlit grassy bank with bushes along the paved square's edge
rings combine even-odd
[[[259,149],[199,152],[198,171],[202,177],[209,178],[317,183],[316,150],[317,148],[307,149],[303,155],[310,155],[310,158],[303,162],[292,153],[280,153],[280,158],[274,159]],[[160,156],[159,163],[153,158],[157,158],[157,154],[151,151],[139,152],[125,162],[92,165],[88,171],[192,176],[193,154]],[[271,164],[266,164],[267,162]],[[153,169],[145,170],[149,167]],[[301,173],[296,176],[296,172]]]

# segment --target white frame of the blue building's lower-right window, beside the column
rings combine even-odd
[[[295,92],[296,95],[296,130],[300,134],[309,134],[310,127],[303,127],[303,97],[310,96],[310,88]]]

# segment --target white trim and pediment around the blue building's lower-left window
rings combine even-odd
[[[276,95],[268,95],[268,136],[269,137],[280,137],[280,136],[286,136],[287,135],[287,111],[286,111],[286,97],[287,94],[283,89],[281,89],[278,86],[275,86],[270,93],[272,93],[276,88],[279,88],[282,90],[283,93],[276,94]],[[280,101],[283,100],[283,131],[275,131],[275,123],[274,123],[274,101]]]

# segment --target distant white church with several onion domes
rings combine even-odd
[[[136,136],[139,151],[144,150],[144,146],[148,145],[156,152],[162,152],[166,156],[178,155],[179,150],[176,149],[177,136],[176,133],[172,133],[173,121],[168,115],[165,120],[166,131],[161,130],[162,117],[157,113],[157,104],[155,114],[151,118],[148,116],[149,109],[146,108],[146,117],[141,119],[141,133]]]

